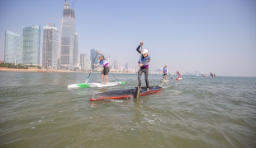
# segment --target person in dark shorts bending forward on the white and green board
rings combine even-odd
[[[93,66],[98,66],[98,65],[102,65],[103,70],[102,70],[102,84],[104,84],[104,76],[106,77],[106,83],[107,84],[107,74],[109,72],[109,63],[107,62],[107,60],[105,60],[104,55],[102,53],[100,53],[99,51],[97,51],[98,54],[100,54],[98,60],[100,61],[97,64],[92,63]]]

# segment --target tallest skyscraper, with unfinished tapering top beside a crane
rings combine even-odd
[[[60,51],[60,68],[72,69],[74,60],[74,32],[75,16],[73,9],[69,7],[69,2],[64,2],[64,11],[62,16],[61,29],[61,51]]]

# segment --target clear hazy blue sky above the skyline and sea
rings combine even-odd
[[[111,62],[138,67],[136,48],[149,50],[149,72],[168,70],[256,76],[255,0],[67,0],[76,17],[79,55],[96,49]],[[59,21],[64,0],[7,0],[0,9],[0,60],[5,30]],[[50,18],[51,17],[51,18]],[[41,57],[41,56],[40,56]],[[41,59],[40,59],[41,62]]]

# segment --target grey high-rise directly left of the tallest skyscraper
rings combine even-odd
[[[57,68],[59,60],[59,31],[54,25],[44,26],[44,37],[43,37],[43,62],[44,67]]]

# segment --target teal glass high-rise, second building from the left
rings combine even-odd
[[[23,29],[23,64],[40,64],[40,25]]]

